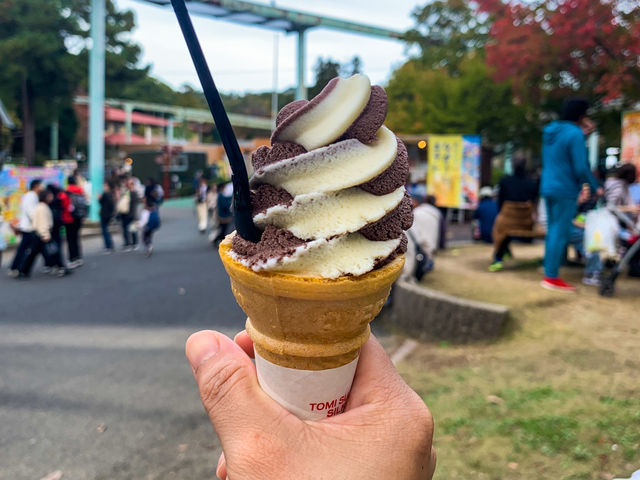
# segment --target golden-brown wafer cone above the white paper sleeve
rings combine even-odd
[[[369,338],[404,264],[399,256],[365,275],[337,279],[254,272],[230,255],[231,236],[220,258],[236,300],[248,315],[256,352],[271,363],[299,370],[327,370],[353,361]]]

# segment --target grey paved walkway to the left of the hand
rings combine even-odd
[[[162,219],[151,259],[103,256],[91,238],[70,277],[2,272],[0,479],[215,478],[219,443],[184,341],[234,333],[244,314],[190,204]]]

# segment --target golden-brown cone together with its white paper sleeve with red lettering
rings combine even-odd
[[[263,390],[300,418],[341,413],[369,322],[382,309],[404,256],[337,279],[254,272],[232,258],[232,236],[220,244],[220,258],[249,317]]]

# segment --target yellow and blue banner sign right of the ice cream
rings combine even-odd
[[[438,206],[473,209],[480,182],[479,135],[429,135],[427,193]]]

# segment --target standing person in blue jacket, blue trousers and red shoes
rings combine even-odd
[[[587,114],[589,102],[582,98],[565,101],[559,121],[547,124],[542,132],[542,178],[540,195],[547,206],[547,236],[544,249],[544,279],[550,290],[573,292],[575,287],[559,277],[559,269],[576,215],[578,194],[583,184],[602,193],[591,174],[585,135],[595,129]]]

